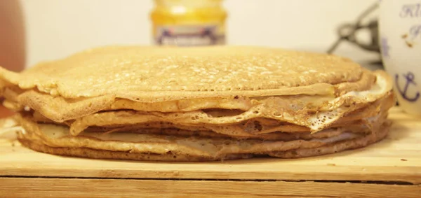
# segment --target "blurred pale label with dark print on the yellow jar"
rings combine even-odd
[[[223,45],[225,35],[220,34],[218,27],[218,25],[158,26],[155,29],[155,43],[176,46]]]

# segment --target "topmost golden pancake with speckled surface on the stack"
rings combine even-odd
[[[156,102],[204,97],[333,94],[364,69],[349,59],[246,46],[109,46],[38,64],[22,73],[0,68],[4,83],[67,99],[113,95]]]

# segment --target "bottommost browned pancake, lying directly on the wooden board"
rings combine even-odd
[[[372,134],[370,136],[361,136],[356,139],[339,141],[338,143],[330,143],[326,146],[319,148],[302,148],[295,150],[286,150],[282,152],[269,153],[269,156],[279,158],[300,158],[300,157],[312,157],[319,155],[327,155],[331,153],[338,153],[343,150],[350,150],[356,148],[363,148],[371,143],[382,140],[389,130],[389,125],[384,125],[378,134]],[[53,155],[65,155],[72,157],[89,157],[95,159],[111,159],[111,160],[141,160],[141,161],[181,161],[181,162],[205,162],[205,161],[216,161],[216,160],[239,160],[247,159],[251,157],[264,157],[265,155],[251,155],[251,154],[234,154],[225,155],[223,157],[197,157],[191,155],[180,155],[167,153],[163,155],[156,155],[152,153],[133,153],[130,151],[112,151],[112,150],[95,150],[91,148],[82,147],[52,147],[43,143],[39,143],[33,140],[27,140],[27,136],[22,136],[20,143],[27,148],[36,150],[42,153],[51,153]]]

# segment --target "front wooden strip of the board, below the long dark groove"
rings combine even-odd
[[[10,197],[419,197],[420,185],[291,181],[0,178]],[[25,190],[22,187],[25,186]],[[3,193],[3,194],[2,194]]]

